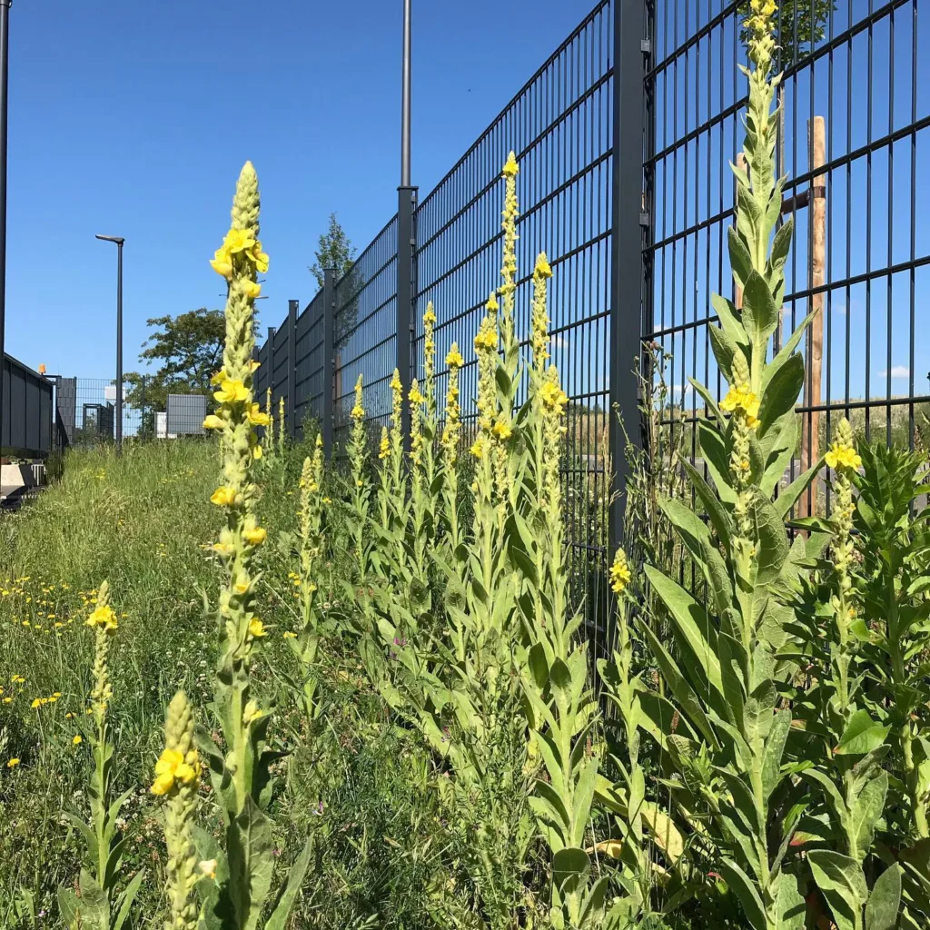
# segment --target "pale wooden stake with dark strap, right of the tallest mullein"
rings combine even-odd
[[[824,119],[815,116],[807,123],[808,142],[812,155],[811,169],[814,173],[811,179],[811,190],[808,200],[811,224],[810,238],[810,270],[811,286],[817,289],[826,281],[827,264],[827,176],[826,172],[817,172],[817,168],[827,163],[827,145]],[[817,407],[821,402],[820,382],[823,371],[823,292],[817,291],[811,299],[811,310],[816,315],[811,322],[807,334],[806,352],[806,379],[804,381],[804,406]],[[801,427],[801,472],[820,458],[820,411],[812,410],[805,413]],[[801,501],[802,516],[810,512],[817,512],[817,486],[815,485],[810,496],[814,499],[813,508],[808,508],[809,495],[805,494]]]

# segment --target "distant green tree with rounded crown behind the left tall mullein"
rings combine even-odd
[[[146,322],[154,332],[142,343],[139,360],[160,365],[153,374],[126,375],[126,403],[141,410],[140,432],[151,435],[155,411],[166,408],[169,393],[210,393],[210,377],[222,360],[226,325],[222,311],[206,307]]]

